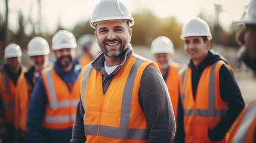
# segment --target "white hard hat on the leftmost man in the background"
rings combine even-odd
[[[4,49],[4,58],[13,58],[13,57],[21,57],[22,52],[19,45],[15,43],[10,43]]]

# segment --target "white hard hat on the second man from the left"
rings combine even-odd
[[[35,37],[27,45],[27,55],[47,55],[50,52],[48,42],[41,37]]]

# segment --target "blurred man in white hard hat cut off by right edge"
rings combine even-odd
[[[239,33],[238,41],[245,46],[242,59],[252,70],[256,71],[256,0],[249,4],[248,16],[235,23],[245,23],[246,28]],[[253,96],[253,95],[252,95]],[[256,102],[247,105],[239,114],[229,130],[226,142],[256,142]]]

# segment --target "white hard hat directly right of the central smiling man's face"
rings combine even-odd
[[[152,54],[156,53],[174,53],[174,46],[170,39],[165,36],[159,36],[154,39],[151,43],[151,52]]]

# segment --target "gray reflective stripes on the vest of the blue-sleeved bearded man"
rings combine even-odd
[[[45,70],[45,75],[46,75],[46,79],[47,79],[47,88],[48,88],[50,99],[51,99],[51,103],[48,102],[47,106],[54,110],[56,110],[57,108],[61,108],[61,107],[76,106],[78,104],[79,100],[72,100],[72,101],[66,100],[66,101],[57,102],[56,95],[55,95],[55,89],[54,89],[54,85],[53,85],[53,83],[54,83],[53,75],[51,73],[51,70],[52,69]],[[58,116],[58,117],[47,116],[47,114],[45,115],[45,122],[49,122],[49,123],[71,122],[71,121],[75,121],[75,115]]]

